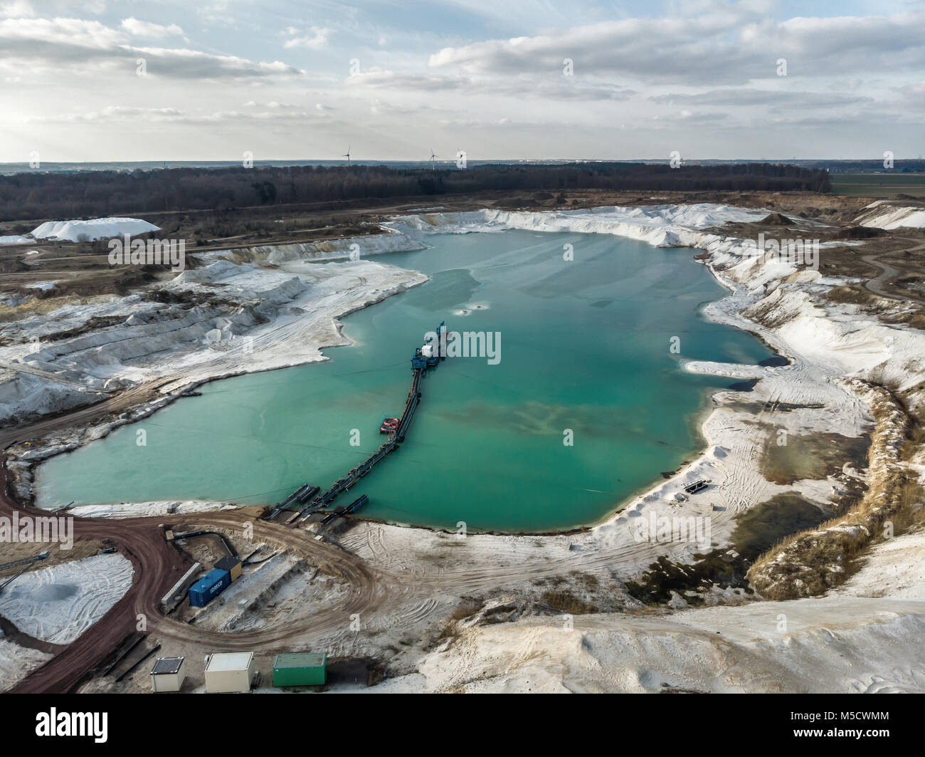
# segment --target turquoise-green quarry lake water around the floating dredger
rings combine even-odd
[[[336,504],[367,494],[361,515],[390,522],[567,530],[697,453],[699,411],[728,380],[687,373],[684,360],[771,356],[701,315],[724,290],[690,250],[529,231],[428,242],[376,256],[431,280],[346,317],[354,345],[327,350],[326,363],[207,384],[59,455],[39,468],[38,502],[272,504],[304,482],[327,489],[385,441],[378,428],[401,415],[414,349],[445,320],[451,331],[499,332],[499,363],[456,357],[428,370],[406,441]]]

